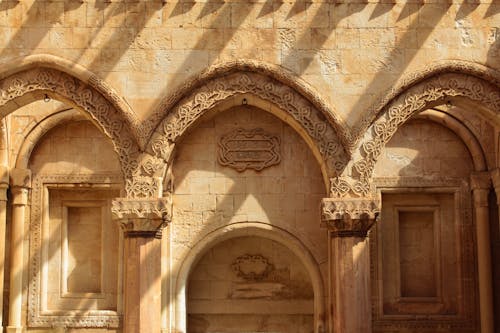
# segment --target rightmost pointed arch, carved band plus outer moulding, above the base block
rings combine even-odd
[[[412,116],[447,100],[469,100],[494,116],[500,112],[500,74],[477,64],[453,61],[410,76],[398,93],[373,113],[353,154],[351,192],[367,195],[375,164],[385,145]],[[354,190],[354,188],[356,190]]]

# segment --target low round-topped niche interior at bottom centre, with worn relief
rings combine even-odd
[[[312,332],[314,292],[300,259],[276,241],[237,237],[208,249],[188,284],[188,332]]]

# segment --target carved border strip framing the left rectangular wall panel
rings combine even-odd
[[[28,326],[30,327],[119,327],[120,314],[111,310],[90,310],[84,314],[42,308],[42,206],[44,184],[122,184],[121,175],[37,175],[33,179],[30,220],[30,261],[28,287]]]

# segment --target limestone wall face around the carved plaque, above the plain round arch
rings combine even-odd
[[[261,128],[277,136],[280,163],[262,171],[241,172],[221,165],[220,139],[239,128]],[[322,270],[323,281],[327,281],[327,233],[320,227],[318,209],[325,186],[317,160],[292,128],[265,111],[236,107],[199,124],[178,145],[175,154],[173,217],[169,227],[175,288],[186,283],[176,276],[181,268],[186,270],[186,258],[197,255],[193,254],[198,251],[194,250],[197,244],[205,243],[204,239],[220,228],[247,222],[268,225],[271,234],[273,227],[289,233],[312,255],[316,269]],[[243,248],[252,252],[260,247]],[[324,302],[321,291],[326,285],[316,288],[316,301]],[[179,305],[185,306],[182,302]],[[185,309],[176,311],[182,313]]]

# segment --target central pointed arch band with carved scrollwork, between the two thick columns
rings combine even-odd
[[[277,74],[269,75],[271,70],[267,67],[266,72],[262,68],[245,67],[244,63],[235,64],[211,73],[202,82],[196,81],[197,84],[190,85],[191,90],[182,90],[182,96],[176,94],[175,98],[162,103],[166,116],[156,127],[146,148],[153,159],[169,161],[175,143],[208,111],[237,97],[251,96],[258,100],[257,106],[262,102],[269,103],[273,107],[264,107],[265,111],[281,110],[283,116],[278,117],[296,129],[300,127],[299,134],[319,152],[320,164],[327,177],[339,175],[349,160],[345,149],[347,130],[334,118],[326,104],[319,97],[312,99],[298,89],[297,84],[291,84],[291,79],[285,74],[279,76],[280,80],[276,78]],[[253,102],[248,101],[249,104]],[[149,174],[155,173],[149,166],[143,169],[149,169]]]

